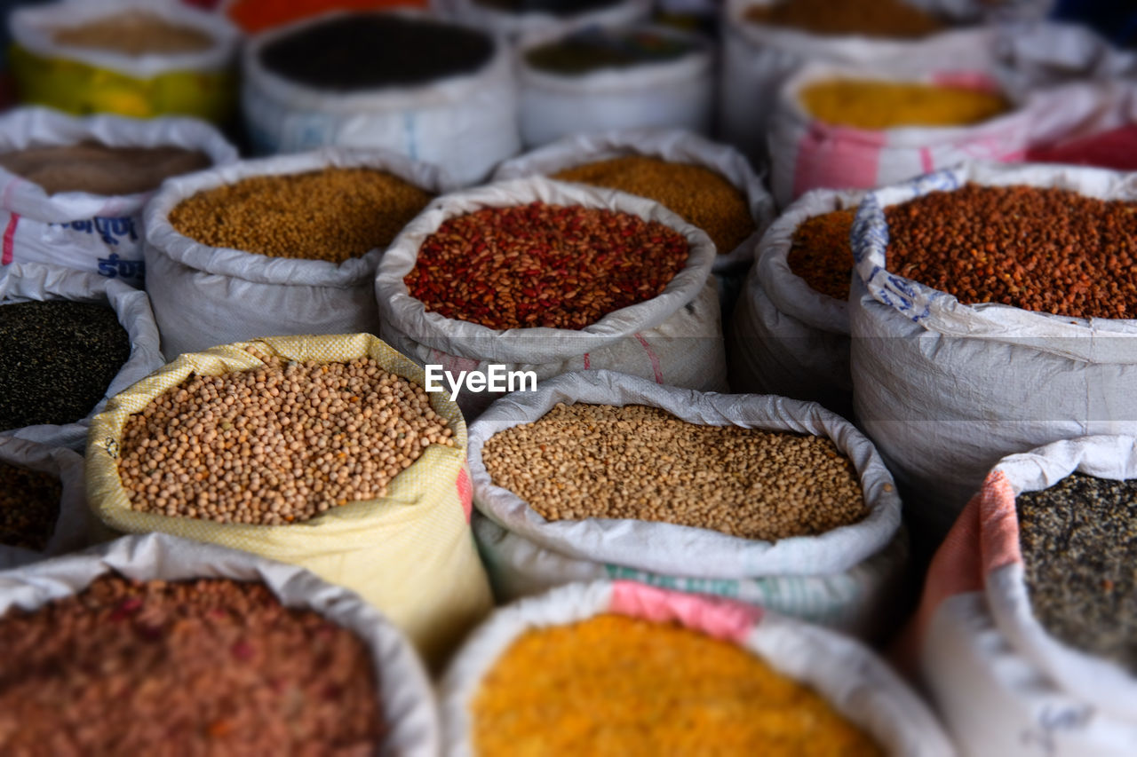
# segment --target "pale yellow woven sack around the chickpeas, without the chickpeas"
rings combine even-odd
[[[274,336],[182,355],[114,397],[91,422],[86,448],[91,509],[115,532],[169,533],[309,568],[358,592],[401,627],[429,660],[441,662],[492,604],[470,531],[466,424],[445,393],[430,394],[431,407],[449,421],[455,446],[428,447],[381,499],[349,502],[283,526],[215,523],[130,508],[118,477],[119,440],[127,418],[190,373],[215,376],[264,365],[246,351],[248,347],[298,361],[371,357],[387,371],[425,383],[421,367],[371,334]]]

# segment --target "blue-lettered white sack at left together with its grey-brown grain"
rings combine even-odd
[[[47,263],[141,286],[142,208],[161,182],[236,160],[199,120],[0,116],[0,265]]]

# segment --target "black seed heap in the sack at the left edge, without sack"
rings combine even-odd
[[[131,356],[108,307],[70,300],[0,306],[0,431],[75,423]]]

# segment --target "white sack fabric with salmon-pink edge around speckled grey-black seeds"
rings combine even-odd
[[[1137,754],[1137,677],[1035,618],[1015,497],[1071,473],[1137,477],[1137,439],[1082,436],[1003,458],[932,560],[899,656],[965,755]]]

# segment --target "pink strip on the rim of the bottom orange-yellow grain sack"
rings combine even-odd
[[[656,623],[677,621],[708,637],[741,642],[762,621],[762,609],[717,597],[686,594],[634,581],[616,581],[609,609]]]

